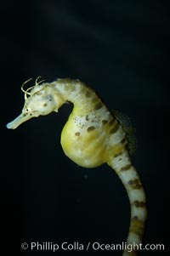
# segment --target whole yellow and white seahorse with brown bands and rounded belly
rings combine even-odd
[[[31,88],[24,88],[25,105],[19,117],[8,122],[7,128],[17,128],[31,117],[58,112],[66,102],[73,104],[73,110],[61,133],[61,145],[73,162],[83,168],[96,168],[107,163],[122,180],[131,207],[127,247],[123,256],[138,254],[144,235],[147,217],[146,196],[139,174],[133,166],[127,149],[127,134],[114,112],[108,110],[94,90],[77,79],[62,78],[54,82],[38,82]]]

